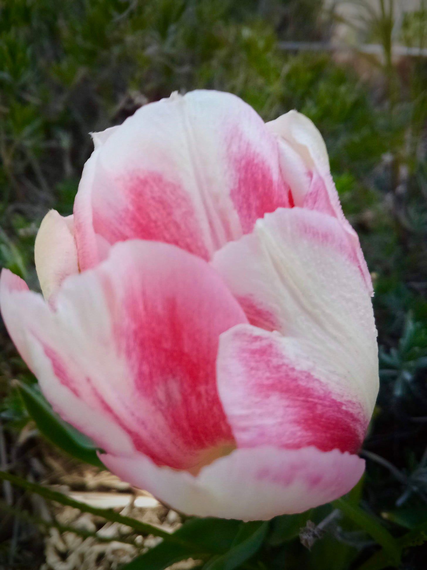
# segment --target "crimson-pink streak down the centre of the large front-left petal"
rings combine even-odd
[[[144,325],[132,318],[141,314],[146,315]],[[231,428],[216,389],[217,339],[206,342],[206,331],[195,325],[191,314],[184,325],[186,319],[175,299],[150,306],[149,299],[131,294],[126,315],[128,331],[121,333],[121,339],[125,340],[124,350],[133,369],[136,391],[142,392],[167,418],[174,439],[183,443],[183,462],[177,463],[169,453],[166,434],[165,441],[146,442],[143,449],[138,445],[139,450],[158,463],[179,469],[186,467],[185,454],[195,455],[207,447],[232,442]],[[192,339],[183,333],[184,326],[192,330]],[[140,418],[143,433],[147,431],[146,422],[152,420]],[[154,457],[157,450],[161,461]]]

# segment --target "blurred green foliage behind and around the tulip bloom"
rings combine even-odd
[[[88,133],[148,101],[209,88],[265,120],[305,113],[325,137],[375,284],[381,389],[360,501],[399,536],[427,519],[427,57],[395,58],[392,45],[427,48],[427,3],[399,22],[387,0],[357,3],[356,37],[378,43],[379,57],[286,49],[330,41],[342,17],[321,0],[0,1],[0,265],[38,288],[35,234],[51,207],[72,212]],[[4,469],[24,462],[16,441],[28,423],[10,380],[33,380],[0,335]],[[344,570],[373,552],[363,533],[332,524],[309,553],[277,524],[265,568]],[[0,534],[1,566],[11,536]],[[24,552],[10,568],[30,568]],[[401,568],[424,569],[426,555],[411,548]]]

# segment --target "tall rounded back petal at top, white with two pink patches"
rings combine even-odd
[[[289,204],[275,137],[229,93],[174,94],[108,135],[75,203],[82,268],[96,262],[94,232],[110,244],[152,239],[210,259],[265,212]]]

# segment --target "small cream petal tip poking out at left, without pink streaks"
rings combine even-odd
[[[63,218],[50,210],[40,224],[34,245],[36,272],[46,300],[68,275],[79,272],[73,235],[73,217]]]

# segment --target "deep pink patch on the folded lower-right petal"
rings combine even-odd
[[[244,446],[299,449],[314,445],[321,451],[339,449],[350,453],[359,449],[367,423],[362,406],[336,400],[313,374],[295,368],[274,338],[257,338],[240,331],[238,350],[249,400],[258,402],[253,410],[251,435]],[[274,417],[278,414],[274,427],[269,421],[272,418],[264,417],[263,401],[277,406],[273,410]],[[236,439],[242,445],[239,434]]]

